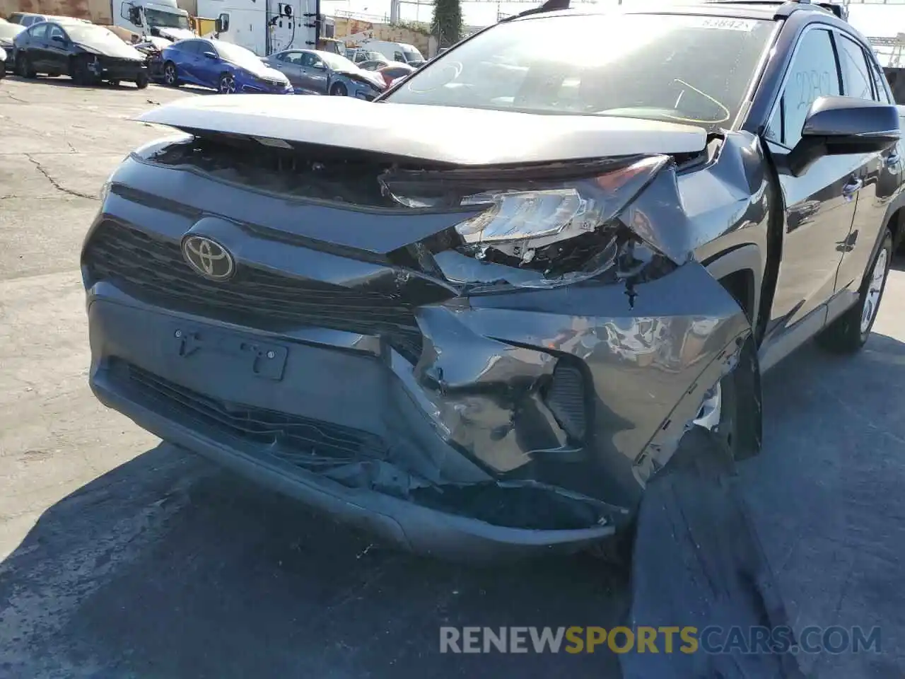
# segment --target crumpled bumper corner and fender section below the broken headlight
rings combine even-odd
[[[498,478],[626,507],[742,365],[751,332],[696,262],[631,296],[619,285],[482,295],[425,307],[418,323],[429,341],[415,381],[447,443]],[[759,393],[737,396],[758,409],[759,431]]]

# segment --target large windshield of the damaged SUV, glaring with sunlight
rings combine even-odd
[[[683,14],[519,20],[462,43],[386,100],[729,127],[772,31]]]

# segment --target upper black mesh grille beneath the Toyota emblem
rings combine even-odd
[[[414,312],[383,292],[247,265],[238,266],[229,281],[208,281],[183,260],[178,243],[111,222],[91,236],[84,263],[93,280],[109,280],[139,300],[174,311],[276,332],[310,325],[380,335],[412,362],[421,355]]]

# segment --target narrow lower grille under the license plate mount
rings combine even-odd
[[[110,369],[114,378],[127,380],[146,401],[166,408],[176,407],[184,416],[246,443],[268,446],[269,454],[291,464],[310,469],[386,458],[383,439],[368,432],[275,410],[225,403],[119,359],[111,361]]]

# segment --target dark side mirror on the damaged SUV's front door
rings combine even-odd
[[[899,110],[893,104],[855,97],[819,97],[811,104],[801,141],[788,155],[795,177],[824,156],[880,153],[901,139]]]

